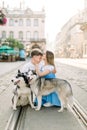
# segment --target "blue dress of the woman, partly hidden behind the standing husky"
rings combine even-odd
[[[45,79],[55,78],[55,74],[49,73],[46,76],[44,76],[44,78]],[[37,99],[35,100],[35,103],[37,104]],[[46,96],[42,96],[42,106],[44,106],[44,104],[46,104],[46,103],[50,103],[52,106],[61,106],[59,97],[56,94],[56,92],[53,92],[53,93],[48,94]]]

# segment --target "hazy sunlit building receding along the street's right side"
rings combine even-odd
[[[71,17],[57,34],[57,57],[87,58],[87,0],[84,3],[84,10]]]

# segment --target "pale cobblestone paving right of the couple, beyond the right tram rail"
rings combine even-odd
[[[57,77],[71,83],[74,97],[87,111],[87,60],[57,60]]]

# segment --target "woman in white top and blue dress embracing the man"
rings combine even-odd
[[[54,65],[54,54],[51,51],[46,51],[43,55],[44,62],[41,63],[41,68],[36,65],[36,72],[40,77],[48,78],[56,78],[55,73],[55,65]],[[37,101],[35,101],[37,103]],[[43,106],[61,106],[60,100],[56,94],[53,92],[47,96],[42,97],[42,105]]]

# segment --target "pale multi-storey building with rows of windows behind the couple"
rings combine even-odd
[[[30,8],[22,9],[2,8],[7,17],[7,23],[0,26],[0,40],[15,38],[21,41],[26,51],[34,47],[45,48],[45,11],[32,11]]]

